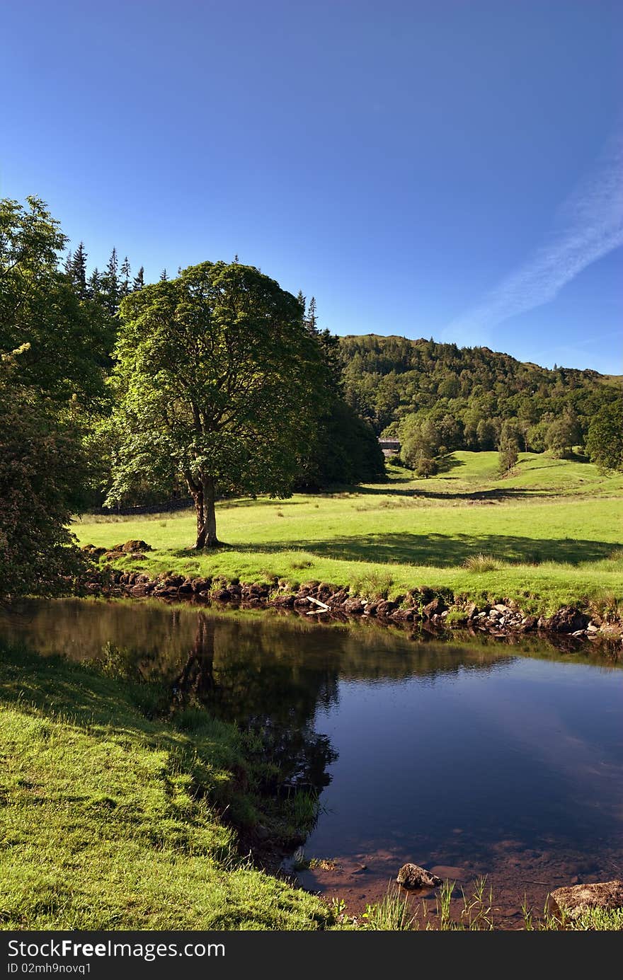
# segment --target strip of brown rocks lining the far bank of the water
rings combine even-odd
[[[426,585],[389,600],[365,598],[353,594],[347,585],[319,581],[298,584],[275,578],[271,582],[240,582],[237,578],[227,581],[166,571],[152,577],[115,567],[115,562],[122,559],[144,559],[144,552],[150,550],[144,541],[128,541],[110,551],[88,545],[83,550],[91,559],[103,559],[105,563],[86,583],[86,591],[91,594],[293,610],[321,620],[371,617],[388,624],[413,624],[436,633],[461,628],[498,637],[539,632],[576,641],[623,642],[623,622],[602,618],[589,609],[565,606],[552,615],[537,616],[523,612],[510,598],[477,605]]]

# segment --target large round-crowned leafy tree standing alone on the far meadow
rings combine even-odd
[[[291,492],[324,408],[326,368],[300,302],[259,270],[205,262],[127,296],[109,501],[136,474],[181,474],[195,547],[219,544],[217,492]]]

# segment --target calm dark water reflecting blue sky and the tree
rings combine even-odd
[[[311,618],[311,617],[309,617]],[[273,733],[322,791],[307,887],[356,908],[405,860],[524,895],[623,873],[623,670],[597,654],[425,641],[372,623],[127,602],[32,602],[0,621],[41,654],[117,658]],[[365,866],[364,866],[365,865]]]

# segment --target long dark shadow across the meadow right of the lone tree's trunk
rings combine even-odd
[[[381,564],[430,564],[454,567],[478,554],[521,564],[580,564],[607,558],[616,547],[611,541],[567,538],[520,538],[505,534],[362,534],[331,541],[289,540],[266,544],[223,545],[218,551],[268,554],[305,551],[318,558]],[[186,553],[181,553],[187,556]]]

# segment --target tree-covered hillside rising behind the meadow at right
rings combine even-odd
[[[440,446],[492,450],[506,423],[522,450],[560,455],[590,445],[591,425],[601,418],[616,441],[621,385],[611,375],[549,370],[488,347],[433,339],[367,334],[341,337],[339,346],[347,400],[379,435],[404,438],[427,425],[435,453]]]

